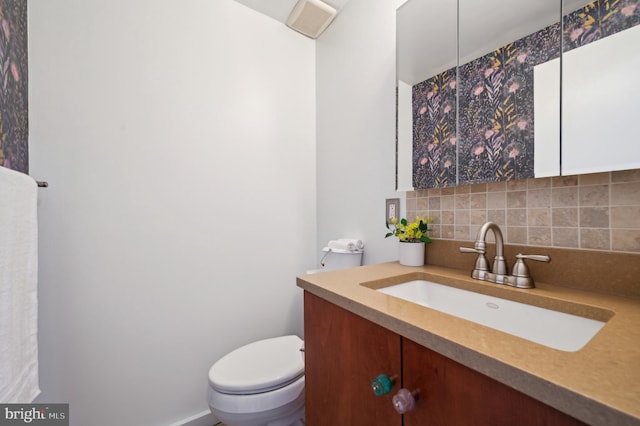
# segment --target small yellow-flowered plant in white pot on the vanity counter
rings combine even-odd
[[[391,219],[387,222],[389,232],[385,238],[395,236],[400,241],[400,264],[406,266],[424,265],[425,244],[431,243],[429,238],[429,224],[433,223],[433,218],[429,216],[417,216],[413,222],[407,219]]]

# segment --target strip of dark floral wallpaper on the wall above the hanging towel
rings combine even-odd
[[[0,165],[29,171],[27,0],[0,0]]]

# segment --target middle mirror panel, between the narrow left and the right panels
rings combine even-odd
[[[558,175],[559,1],[459,0],[458,13],[458,183]]]

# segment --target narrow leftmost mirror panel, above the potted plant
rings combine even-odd
[[[399,191],[457,183],[457,21],[451,0],[409,0],[397,10]]]

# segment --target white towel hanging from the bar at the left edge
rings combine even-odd
[[[38,384],[38,186],[0,167],[0,403],[30,403]]]

